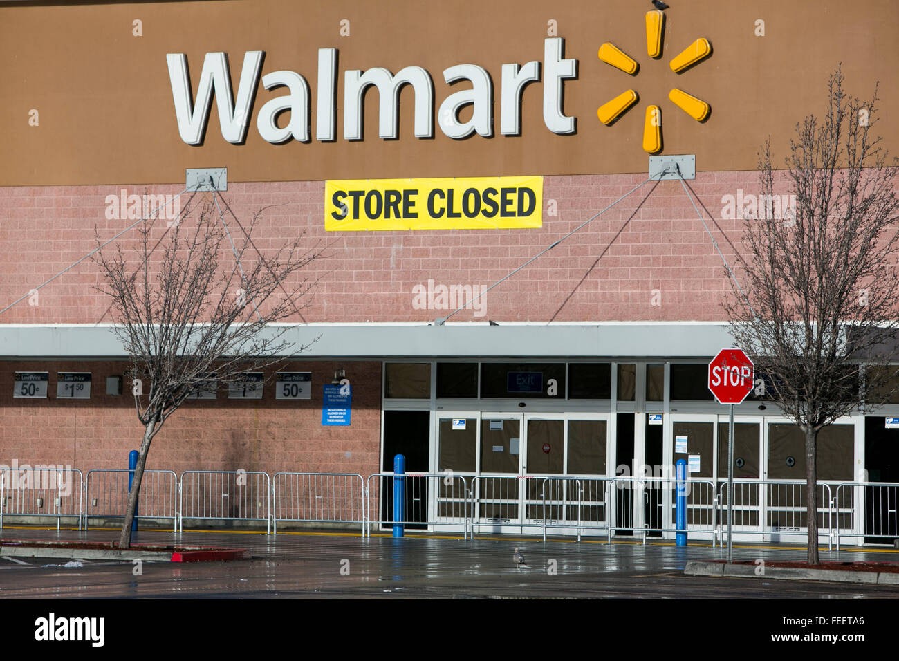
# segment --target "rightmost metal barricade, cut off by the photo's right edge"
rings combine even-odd
[[[861,544],[899,542],[899,483],[843,482],[834,504],[837,551],[840,538]]]

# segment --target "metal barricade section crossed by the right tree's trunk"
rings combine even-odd
[[[827,535],[832,548],[833,500],[831,485],[819,482],[817,514],[819,534]],[[718,490],[720,535],[726,534],[727,481]],[[806,482],[800,480],[734,479],[734,533],[752,533],[761,541],[779,542],[781,537],[807,536]]]

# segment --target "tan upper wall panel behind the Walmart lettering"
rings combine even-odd
[[[647,104],[663,116],[663,153],[697,155],[699,170],[752,170],[769,135],[779,156],[796,121],[821,112],[828,74],[841,61],[850,92],[867,97],[881,82],[885,147],[899,152],[893,83],[899,61],[899,5],[890,0],[723,3],[681,0],[666,11],[663,57],[646,55],[648,3],[541,0],[423,3],[234,0],[138,4],[11,4],[0,7],[0,185],[177,183],[184,168],[227,165],[232,181],[307,181],[326,178],[606,174],[645,172],[641,147]],[[341,19],[351,36],[339,35]],[[132,36],[132,21],[143,36]],[[565,38],[565,57],[579,60],[577,80],[565,82],[565,112],[577,118],[575,136],[544,126],[543,84],[526,88],[522,136],[499,135],[501,66],[542,60],[547,21]],[[765,21],[766,36],[754,36]],[[670,60],[698,37],[714,49],[705,62],[676,75]],[[596,56],[610,40],[640,64],[637,76]],[[317,49],[339,49],[335,143],[315,136]],[[256,112],[284,94],[262,88],[245,145],[227,143],[210,112],[205,143],[182,143],[165,54],[188,56],[196,89],[208,51],[229,55],[237,84],[245,50],[263,49],[263,75],[289,69],[305,76],[312,94],[310,143],[270,145],[255,127]],[[452,140],[437,126],[436,109],[455,91],[444,68],[473,63],[494,81],[494,138]],[[416,65],[435,87],[435,137],[412,135],[412,90],[401,94],[400,138],[377,138],[378,94],[366,95],[366,138],[343,140],[343,72],[348,68]],[[668,100],[672,86],[711,104],[697,123]],[[466,83],[457,88],[467,87]],[[639,101],[610,127],[596,109],[633,87]],[[40,125],[28,124],[29,111]]]

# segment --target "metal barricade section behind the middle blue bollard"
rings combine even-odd
[[[405,521],[394,520],[394,481],[404,480]],[[467,538],[470,521],[468,519],[467,477],[457,473],[373,473],[367,481],[369,505],[367,534],[371,534],[371,524],[379,526],[402,523],[406,530],[427,530],[429,528],[462,528],[463,538]],[[372,516],[372,511],[375,515]]]

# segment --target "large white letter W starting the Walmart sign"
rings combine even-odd
[[[246,138],[247,118],[250,106],[259,85],[259,71],[263,66],[262,50],[247,50],[244,56],[244,69],[237,87],[236,111],[235,101],[231,95],[231,75],[227,65],[227,55],[222,52],[207,53],[200,73],[200,84],[197,85],[197,103],[191,108],[191,81],[187,77],[187,56],[183,53],[169,53],[169,80],[172,83],[174,112],[178,120],[178,132],[188,145],[199,145],[203,132],[209,121],[209,108],[212,105],[212,90],[215,88],[218,103],[218,123],[221,126],[222,138],[233,144],[239,144]]]

